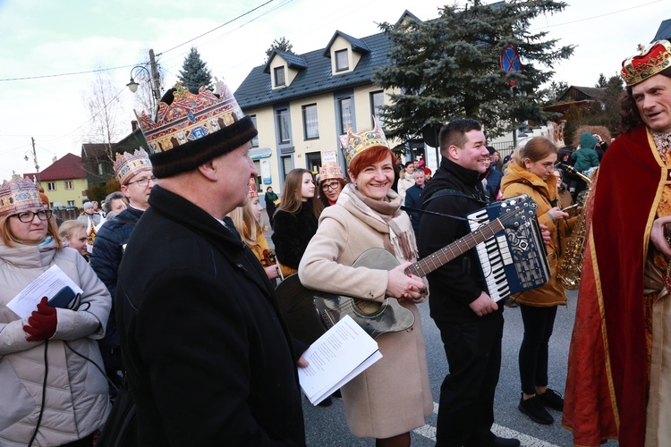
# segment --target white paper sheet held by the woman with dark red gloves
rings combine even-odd
[[[70,286],[75,293],[83,292],[80,286],[75,284],[63,270],[58,266],[51,266],[8,302],[7,307],[11,308],[21,318],[28,318],[32,311],[38,308],[38,303],[42,297],[53,298],[66,285]]]

